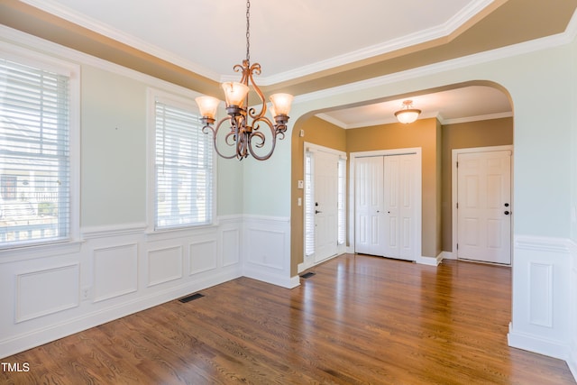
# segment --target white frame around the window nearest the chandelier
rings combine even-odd
[[[186,95],[184,95],[186,94]],[[147,186],[147,234],[167,234],[167,233],[178,233],[182,231],[190,231],[194,229],[202,229],[206,227],[212,227],[217,225],[216,221],[216,197],[217,197],[217,156],[213,146],[210,146],[212,151],[212,194],[210,197],[210,215],[208,215],[208,220],[203,224],[190,224],[181,226],[169,226],[157,228],[156,224],[156,199],[157,199],[157,187],[156,187],[156,102],[164,103],[166,105],[178,107],[184,110],[188,110],[194,114],[200,116],[198,106],[194,101],[196,93],[183,93],[175,94],[166,92],[157,88],[149,87],[147,91],[147,106],[148,106],[148,149],[147,149],[147,175],[148,175],[148,186]],[[203,135],[205,133],[202,133]]]

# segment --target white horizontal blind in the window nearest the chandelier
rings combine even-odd
[[[155,127],[155,229],[212,223],[212,142],[198,115],[157,100]]]

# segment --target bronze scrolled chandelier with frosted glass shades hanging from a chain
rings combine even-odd
[[[203,133],[212,134],[215,151],[219,156],[225,159],[237,158],[243,160],[252,155],[256,160],[267,160],[274,151],[277,138],[284,139],[287,131],[287,122],[289,122],[290,104],[292,103],[292,95],[289,94],[275,94],[270,96],[271,113],[274,122],[265,116],[267,113],[267,103],[262,95],[261,89],[254,83],[252,75],[261,74],[261,65],[259,63],[251,64],[250,54],[250,10],[251,1],[246,2],[246,59],[243,64],[236,64],[233,69],[234,72],[241,72],[242,77],[238,82],[226,82],[221,85],[224,90],[224,98],[226,101],[226,114],[228,116],[221,119],[215,125],[216,108],[220,104],[220,100],[212,96],[199,96],[197,101],[200,115],[202,115],[201,122],[204,125]],[[257,108],[249,107],[249,91],[250,86],[261,102],[260,111]],[[224,123],[228,123],[229,131],[224,134],[224,138],[219,136],[219,131]],[[226,126],[226,125],[224,125]],[[220,139],[219,139],[220,138]],[[267,139],[271,140],[270,145],[263,151],[268,152],[259,153],[256,149],[262,149],[265,146]],[[227,146],[234,147],[235,152],[224,154],[219,149],[219,142]]]

